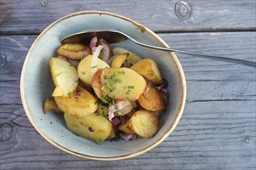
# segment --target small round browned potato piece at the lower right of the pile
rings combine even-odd
[[[157,116],[147,110],[139,110],[130,118],[130,128],[143,138],[151,138],[157,133]]]

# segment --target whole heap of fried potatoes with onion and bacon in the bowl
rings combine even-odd
[[[106,140],[152,138],[168,105],[168,82],[153,59],[94,37],[90,46],[64,44],[50,58],[55,89],[44,113],[64,114],[74,134]]]

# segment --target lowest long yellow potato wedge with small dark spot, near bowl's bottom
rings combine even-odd
[[[112,133],[112,124],[102,116],[89,114],[87,116],[77,117],[73,114],[64,114],[64,119],[74,134],[92,141],[105,141]]]

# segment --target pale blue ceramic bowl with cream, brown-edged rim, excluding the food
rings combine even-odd
[[[54,113],[43,114],[44,100],[51,96],[54,90],[50,76],[50,57],[56,55],[58,46],[61,46],[61,39],[87,29],[116,29],[141,42],[168,47],[150,29],[121,15],[91,11],[64,16],[43,30],[26,56],[20,85],[26,115],[43,138],[57,148],[81,158],[111,161],[144,154],[164,141],[174,131],[182,117],[186,97],[185,76],[174,53],[147,49],[130,41],[112,45],[122,46],[144,58],[154,59],[160,67],[162,76],[168,80],[169,105],[161,114],[159,130],[154,138],[104,141],[102,145],[97,145],[69,131],[63,116]]]

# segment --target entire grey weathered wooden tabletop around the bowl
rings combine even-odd
[[[188,2],[188,4],[186,4]],[[96,162],[50,145],[30,124],[19,95],[22,63],[36,36],[72,12],[125,15],[177,49],[254,61],[254,0],[1,0],[0,169],[255,169],[256,70],[177,54],[188,96],[182,120],[137,158]]]

